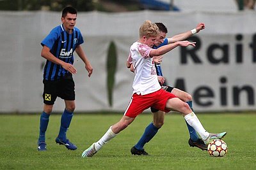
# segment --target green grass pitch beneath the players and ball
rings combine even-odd
[[[40,115],[0,116],[0,169],[255,169],[256,114],[198,114],[209,132],[227,131],[225,157],[210,157],[188,145],[184,119],[177,113],[166,115],[165,124],[145,150],[150,156],[134,156],[130,148],[152,121],[143,113],[94,157],[81,153],[117,122],[116,115],[75,115],[67,132],[77,150],[56,145],[60,116],[51,115],[47,129],[47,152],[38,152],[36,142]]]

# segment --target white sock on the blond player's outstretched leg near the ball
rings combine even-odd
[[[209,132],[205,131],[203,125],[201,124],[200,120],[196,117],[194,112],[189,113],[185,117],[186,122],[188,122],[191,127],[195,129],[196,132],[201,136],[203,140],[207,139],[209,136]]]

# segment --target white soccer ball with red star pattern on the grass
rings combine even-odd
[[[214,139],[209,143],[207,151],[212,157],[223,157],[228,152],[228,146],[225,141]]]

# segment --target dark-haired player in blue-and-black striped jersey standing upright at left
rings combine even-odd
[[[40,132],[38,138],[38,151],[46,150],[45,132],[49,117],[57,97],[65,101],[65,110],[61,116],[60,132],[56,143],[66,146],[68,150],[76,150],[77,146],[71,143],[66,136],[70,126],[75,104],[75,84],[72,74],[77,70],[73,66],[74,51],[83,60],[85,69],[90,77],[93,68],[87,59],[81,44],[83,36],[76,25],[77,11],[68,6],[62,11],[62,24],[52,29],[49,35],[42,41],[42,57],[46,59],[44,67],[44,111],[40,117]]]

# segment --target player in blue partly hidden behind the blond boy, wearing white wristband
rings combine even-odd
[[[162,24],[162,23],[156,23],[156,25],[157,25],[157,27],[159,27],[160,36],[158,38],[158,41],[157,41],[156,45],[153,46],[153,48],[155,48],[155,49],[159,48],[160,46],[168,45],[169,43],[174,43],[176,41],[184,40],[184,39],[188,38],[189,36],[192,36],[196,32],[199,32],[200,30],[204,29],[204,27],[205,27],[205,25],[203,23],[200,23],[196,26],[196,29],[193,29],[192,31],[184,32],[184,33],[179,34],[177,36],[173,36],[172,38],[166,38],[166,34],[167,34],[168,30],[165,27],[165,25]],[[172,92],[173,94],[175,94],[182,101],[188,103],[191,110],[193,110],[192,97],[191,97],[190,94],[188,94],[187,92],[184,92],[182,90],[176,89],[174,87],[166,86],[165,80],[163,78],[163,71],[162,71],[161,64],[160,64],[162,58],[163,58],[162,56],[161,57],[156,57],[155,60],[154,60],[159,83],[161,84],[161,86],[164,90],[166,90],[167,92]],[[129,64],[127,66],[129,66]],[[136,143],[136,145],[134,145],[131,148],[131,153],[133,155],[148,155],[148,153],[144,150],[145,144],[148,143],[152,138],[154,138],[157,131],[164,124],[164,112],[156,110],[154,108],[150,108],[150,109],[151,109],[152,113],[154,113],[153,114],[153,116],[154,116],[153,122],[150,123],[146,127],[145,132],[141,136],[138,143]],[[198,147],[202,150],[207,150],[207,145],[205,145],[204,141],[202,141],[202,139],[200,139],[198,137],[198,135],[196,134],[195,129],[193,127],[191,127],[187,122],[186,122],[186,125],[188,126],[188,131],[189,131],[189,135],[190,135],[190,138],[189,138],[189,141],[188,141],[189,146],[192,146],[192,147],[196,146],[196,147]]]

